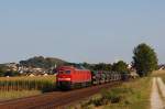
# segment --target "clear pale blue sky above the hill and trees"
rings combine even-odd
[[[131,63],[140,43],[165,63],[164,35],[165,0],[0,0],[0,63]]]

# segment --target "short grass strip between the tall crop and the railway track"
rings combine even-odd
[[[0,100],[9,100],[22,97],[29,97],[34,95],[41,95],[40,90],[22,90],[22,91],[0,91]]]

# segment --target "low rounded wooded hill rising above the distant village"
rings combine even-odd
[[[59,58],[43,57],[43,56],[35,56],[26,61],[20,61],[20,65],[41,68],[51,68],[54,67],[55,65],[59,66],[64,64],[67,64],[67,62]]]

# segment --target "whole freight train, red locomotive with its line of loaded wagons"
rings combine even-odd
[[[121,73],[91,72],[74,66],[62,66],[57,68],[56,85],[59,89],[75,89],[128,78],[129,75]]]

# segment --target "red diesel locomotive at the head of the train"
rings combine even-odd
[[[57,70],[57,87],[62,89],[80,88],[91,85],[91,73],[88,69],[62,66]]]

